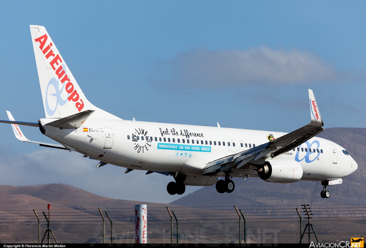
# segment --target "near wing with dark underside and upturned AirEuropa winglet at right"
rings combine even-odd
[[[309,102],[311,113],[311,122],[309,124],[268,143],[212,161],[204,168],[203,174],[214,175],[233,167],[239,169],[249,162],[263,164],[266,159],[284,154],[324,131],[318,104],[313,91],[310,89]]]

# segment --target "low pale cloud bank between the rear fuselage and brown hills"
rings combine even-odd
[[[169,203],[201,187],[187,186],[183,195],[171,196],[167,184],[170,176],[134,170],[124,174],[125,168],[105,165],[96,168],[98,161],[81,154],[57,149],[42,149],[30,154],[3,154],[0,158],[0,184],[26,186],[63,183],[95,193],[123,200]]]

